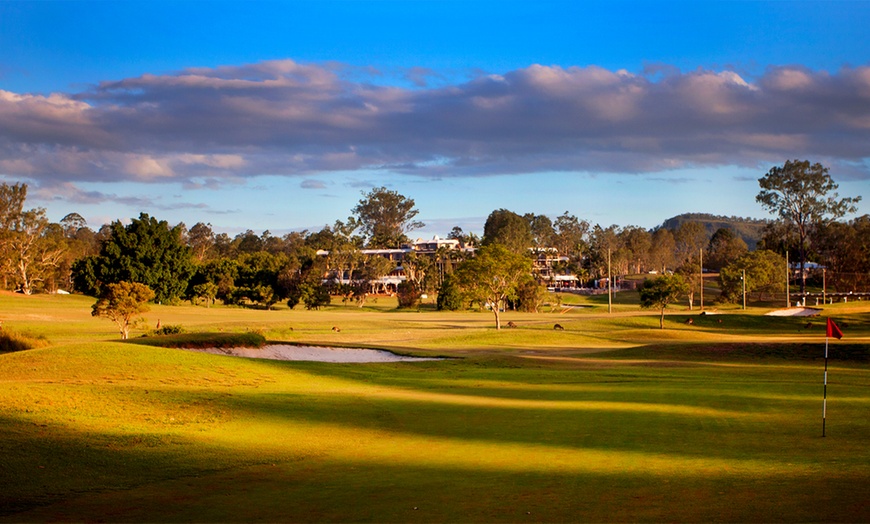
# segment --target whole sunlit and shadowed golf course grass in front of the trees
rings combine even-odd
[[[45,339],[0,355],[0,520],[870,521],[870,308],[824,312],[848,327],[821,438],[818,318],[147,315],[459,357],[361,365],[121,343],[92,302],[0,296],[4,330]]]

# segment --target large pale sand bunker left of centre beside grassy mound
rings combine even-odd
[[[293,346],[271,344],[261,348],[202,348],[190,349],[216,355],[233,357],[265,358],[269,360],[307,360],[315,362],[369,363],[369,362],[419,362],[443,360],[440,358],[409,357],[379,349],[328,348],[318,346]]]

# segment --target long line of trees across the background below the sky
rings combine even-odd
[[[681,289],[691,304],[701,291],[702,271],[714,271],[721,300],[733,301],[742,292],[744,274],[750,291],[777,291],[788,256],[801,268],[809,261],[824,264],[833,286],[866,285],[870,216],[842,220],[860,197],[839,198],[827,168],[807,161],[775,167],[759,185],[757,201],[776,219],[753,251],[734,230],[722,227],[710,234],[699,221],[647,230],[593,225],[568,211],[551,219],[496,209],[482,237],[453,228],[448,238],[464,249],[410,251],[391,260],[363,250],[398,249],[423,224],[416,220],[413,199],[385,187],[363,192],[347,219],[319,231],[274,236],[248,230],[230,237],[210,224],[172,226],[144,213],[129,224],[116,221],[97,231],[76,213],[50,223],[44,209],[25,209],[26,184],[3,183],[0,271],[4,288],[26,294],[72,288],[101,296],[109,284],[138,282],[161,303],[220,300],[271,308],[286,301],[316,309],[333,299],[363,305],[372,282],[400,265],[406,277],[398,289],[400,306],[437,293],[440,308],[477,302],[496,316],[506,302],[536,310],[553,275],[574,275],[585,284],[610,275],[674,273],[685,281]],[[536,260],[547,261],[546,274]],[[803,291],[807,272],[800,275]],[[494,276],[504,277],[498,289]]]

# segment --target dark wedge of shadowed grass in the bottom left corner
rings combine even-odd
[[[197,446],[196,453],[190,453],[192,446]],[[254,462],[226,451],[156,430],[109,434],[79,431],[57,421],[0,416],[0,516]]]

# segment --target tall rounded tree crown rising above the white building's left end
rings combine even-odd
[[[419,211],[414,200],[386,187],[363,192],[363,198],[351,212],[370,248],[398,248],[408,241],[406,233],[424,226],[414,220]]]

